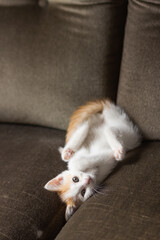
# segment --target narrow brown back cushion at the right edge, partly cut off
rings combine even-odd
[[[160,139],[160,1],[130,0],[118,104],[147,139]]]

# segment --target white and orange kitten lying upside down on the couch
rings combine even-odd
[[[127,114],[109,100],[89,102],[72,115],[64,148],[59,148],[68,170],[45,188],[66,203],[66,220],[107,177],[126,151],[141,143],[141,135]]]

